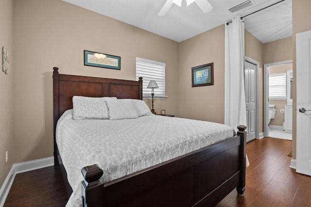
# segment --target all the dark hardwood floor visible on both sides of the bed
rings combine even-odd
[[[310,207],[311,177],[289,168],[292,141],[262,138],[246,144],[244,196],[233,190],[217,207]],[[63,207],[67,194],[60,169],[17,174],[4,207]]]

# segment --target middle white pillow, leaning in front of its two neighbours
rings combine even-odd
[[[106,100],[110,120],[135,119],[138,113],[131,99]]]

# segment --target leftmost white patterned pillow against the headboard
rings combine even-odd
[[[116,97],[85,97],[73,96],[72,119],[109,119],[108,108],[105,100],[117,99]]]

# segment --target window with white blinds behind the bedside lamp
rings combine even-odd
[[[136,58],[136,79],[142,77],[143,98],[151,97],[151,88],[147,88],[149,81],[155,80],[159,86],[154,89],[155,99],[166,98],[165,96],[165,63],[155,62],[143,58]]]

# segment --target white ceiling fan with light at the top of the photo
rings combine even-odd
[[[213,9],[212,5],[210,5],[210,3],[207,0],[186,0],[186,1],[187,1],[187,6],[195,2],[204,13],[210,12],[210,10]],[[182,0],[166,0],[164,6],[162,7],[159,14],[157,15],[160,17],[166,15],[166,13],[169,11],[173,3],[178,6],[181,6],[181,2]]]

